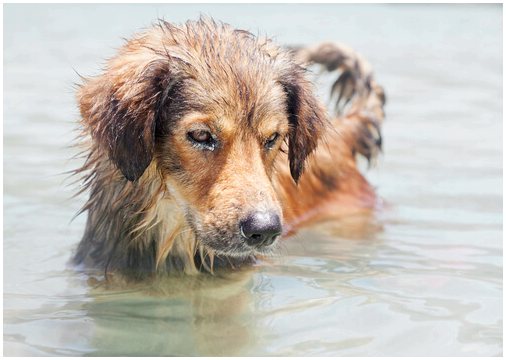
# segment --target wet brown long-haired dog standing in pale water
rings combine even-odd
[[[330,116],[306,67],[339,76]],[[385,96],[334,43],[280,47],[209,18],[160,20],[77,91],[89,200],[74,262],[144,278],[240,267],[281,236],[373,209],[357,168],[381,150]]]

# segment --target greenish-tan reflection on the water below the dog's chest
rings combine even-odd
[[[109,277],[85,308],[94,356],[237,355],[255,343],[253,268],[215,276],[172,276],[142,285]],[[253,323],[252,323],[253,322]]]

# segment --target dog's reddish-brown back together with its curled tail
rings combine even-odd
[[[323,219],[374,209],[376,194],[359,172],[356,156],[364,156],[371,164],[381,152],[385,93],[370,64],[343,44],[289,49],[297,61],[320,66],[334,79],[329,89],[334,102],[329,109],[331,126],[309,158],[304,175],[295,186],[286,171],[280,173],[287,231],[293,233]]]

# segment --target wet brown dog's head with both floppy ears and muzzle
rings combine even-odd
[[[123,176],[136,182],[154,162],[196,238],[231,256],[281,234],[275,160],[287,150],[297,182],[326,116],[290,54],[210,20],[137,36],[78,100]]]

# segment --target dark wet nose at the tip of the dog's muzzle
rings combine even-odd
[[[279,216],[273,212],[251,213],[239,226],[248,245],[255,247],[271,245],[283,230]]]

